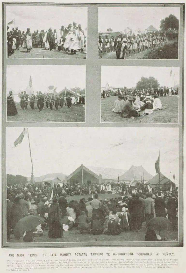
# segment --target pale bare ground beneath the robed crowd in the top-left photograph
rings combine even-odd
[[[27,52],[26,48],[19,48],[19,51],[15,51],[14,54],[9,56],[9,58],[42,58],[42,59],[86,59],[87,49],[84,48],[84,52],[77,51],[76,54],[71,54],[71,52],[53,51],[46,50],[44,48],[32,48],[31,52]]]

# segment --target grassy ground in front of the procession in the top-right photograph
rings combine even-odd
[[[105,45],[103,46],[103,55],[100,54],[99,58],[101,59],[116,59],[116,52],[108,52],[105,53]],[[131,59],[178,59],[178,41],[168,41],[167,45],[160,46],[158,48],[146,49],[138,53],[138,49],[136,49],[136,55],[134,55],[133,50],[131,51],[131,57],[129,57],[129,53],[127,52],[126,60]]]

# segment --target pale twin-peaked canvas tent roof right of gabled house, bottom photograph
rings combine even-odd
[[[137,180],[141,181],[141,178],[147,181],[150,180],[153,176],[148,173],[143,166],[134,166],[132,165],[128,171],[121,175],[120,180],[132,181],[136,177]]]

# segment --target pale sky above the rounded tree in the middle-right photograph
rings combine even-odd
[[[132,88],[141,77],[149,78],[150,76],[156,78],[160,86],[173,87],[179,84],[179,67],[102,66],[101,87],[105,87],[108,83],[112,87]]]

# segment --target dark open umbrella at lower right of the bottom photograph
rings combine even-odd
[[[147,228],[153,228],[154,230],[163,231],[172,229],[171,222],[165,217],[154,217],[148,224]]]

